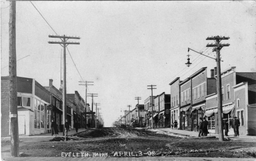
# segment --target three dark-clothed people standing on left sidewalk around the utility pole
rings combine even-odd
[[[71,129],[71,126],[69,125],[67,119],[66,119],[64,127],[65,127],[65,136],[67,136],[68,131],[70,131],[70,129]],[[75,132],[78,133],[79,122],[74,123],[74,128],[75,128]],[[51,136],[53,136],[53,135],[55,135],[55,136],[59,135],[59,130],[58,130],[57,124],[54,120],[51,121]]]

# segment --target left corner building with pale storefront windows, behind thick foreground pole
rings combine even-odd
[[[50,92],[36,80],[17,77],[19,135],[48,133],[50,130]],[[1,77],[1,136],[10,135],[9,76]]]

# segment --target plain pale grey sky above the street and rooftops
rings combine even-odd
[[[79,81],[93,81],[88,93],[97,93],[105,127],[112,125],[127,105],[135,108],[153,95],[170,94],[170,82],[186,79],[202,67],[216,62],[188,47],[214,58],[206,40],[226,36],[229,47],[221,50],[222,71],[256,72],[255,1],[32,1],[59,35],[73,35],[80,45],[68,45],[67,93],[78,91]],[[36,79],[41,85],[60,87],[61,52],[56,35],[30,1],[16,2],[17,75]],[[1,1],[1,76],[8,73],[9,2]],[[26,57],[27,56],[27,57]],[[25,57],[25,58],[24,58]],[[77,67],[77,69],[75,68]],[[80,75],[79,75],[79,73]],[[63,74],[62,74],[63,75]],[[91,98],[88,97],[91,104]]]

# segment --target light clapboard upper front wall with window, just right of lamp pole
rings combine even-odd
[[[234,88],[232,88],[232,86],[234,86],[234,74],[235,73],[231,73],[222,77],[222,86],[224,87],[224,100],[222,102],[223,104],[234,102]],[[230,99],[227,100],[226,85],[228,84],[230,85]]]

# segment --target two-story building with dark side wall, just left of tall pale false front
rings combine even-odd
[[[165,92],[162,92],[157,97],[155,97],[154,101],[155,101],[155,105],[158,102],[158,107],[159,107],[158,123],[157,123],[158,127],[170,126],[171,125],[171,121],[170,121],[171,94],[165,94]]]

